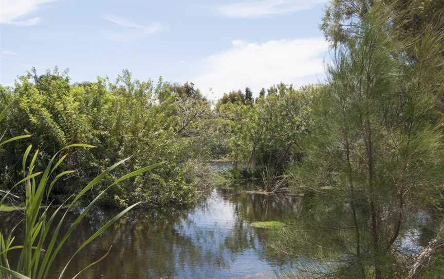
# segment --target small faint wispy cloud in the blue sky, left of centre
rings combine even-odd
[[[127,32],[115,32],[108,34],[108,39],[112,40],[127,40],[127,39],[137,39],[148,34],[155,34],[164,31],[166,28],[158,23],[153,23],[150,25],[140,25],[134,21],[119,18],[114,15],[106,15],[103,17],[104,20],[117,24],[121,27],[128,28],[131,31]]]

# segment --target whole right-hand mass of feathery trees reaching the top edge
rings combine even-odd
[[[301,187],[324,189],[333,202],[315,205],[314,212],[326,206],[329,214],[324,207],[275,244],[317,255],[320,263],[303,274],[442,276],[439,265],[421,273],[444,243],[442,4],[334,1],[327,8],[322,28],[334,46],[328,82],[292,173]],[[426,248],[412,256],[400,239],[418,208],[434,212],[434,225]]]

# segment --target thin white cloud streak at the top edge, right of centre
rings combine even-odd
[[[311,9],[313,6],[325,2],[327,0],[256,0],[220,6],[218,11],[224,16],[248,18],[297,12]]]

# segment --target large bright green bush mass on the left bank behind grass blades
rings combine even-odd
[[[54,184],[54,198],[79,190],[72,177],[85,182],[108,165],[132,155],[115,175],[153,162],[167,161],[153,172],[131,183],[111,189],[102,204],[126,206],[143,202],[146,206],[185,204],[193,200],[195,178],[187,175],[189,160],[209,157],[202,134],[203,120],[209,117],[210,103],[192,83],[170,84],[133,81],[123,71],[115,83],[70,84],[66,73],[57,70],[38,76],[35,71],[20,77],[15,88],[0,87],[0,103],[14,100],[2,128],[8,134],[32,133],[30,143],[40,149],[35,165],[43,166],[50,156],[66,144],[88,142],[94,150],[73,152],[65,158],[63,171],[73,169]],[[3,188],[17,181],[21,171],[14,155],[26,150],[18,142],[0,150]],[[187,169],[188,168],[188,169]],[[106,181],[113,179],[107,176]],[[100,183],[93,195],[105,187]],[[63,200],[63,199],[62,199]]]

